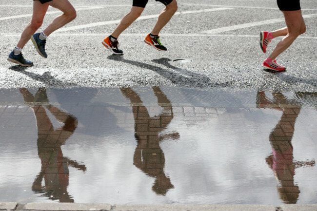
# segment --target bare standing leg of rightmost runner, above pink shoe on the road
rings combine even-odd
[[[287,25],[288,33],[277,44],[276,48],[269,56],[269,58],[276,59],[283,51],[285,51],[298,35],[303,34],[306,31],[306,26],[303,17],[301,16],[301,10],[297,11],[283,11],[285,22]]]

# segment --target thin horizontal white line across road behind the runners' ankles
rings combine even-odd
[[[111,32],[105,33],[71,33],[71,34],[52,34],[50,37],[103,37],[105,35],[111,34]],[[120,37],[145,37],[147,33],[126,33],[121,34]],[[8,34],[8,33],[0,33],[1,37],[20,37],[21,34]],[[224,34],[161,34],[161,37],[229,37],[229,38],[258,38],[258,35],[224,35]],[[311,36],[299,36],[299,39],[317,39],[317,37]],[[297,38],[297,39],[298,39]]]

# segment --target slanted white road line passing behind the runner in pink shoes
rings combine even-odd
[[[317,17],[317,14],[303,15],[303,18],[306,18],[306,19],[314,18],[314,17]],[[221,27],[218,29],[211,29],[208,31],[203,31],[201,33],[218,34],[221,32],[228,32],[228,31],[233,31],[233,30],[237,30],[237,29],[250,28],[250,27],[254,27],[254,26],[279,23],[279,22],[284,22],[284,21],[285,21],[285,19],[269,19],[269,20],[263,20],[263,21],[258,21],[258,22],[243,23],[243,24],[234,25],[234,26]]]

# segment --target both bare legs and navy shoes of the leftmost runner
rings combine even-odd
[[[53,22],[46,29],[44,29],[44,31],[34,34],[42,25],[48,6],[59,9],[61,12],[63,12],[63,14],[56,17]],[[32,20],[25,27],[17,46],[9,54],[7,60],[16,64],[20,64],[21,66],[33,65],[33,62],[25,60],[21,53],[22,48],[30,38],[32,39],[32,42],[40,56],[47,58],[45,52],[47,36],[75,18],[76,11],[68,0],[34,0]]]

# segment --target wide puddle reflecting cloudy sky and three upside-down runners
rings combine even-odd
[[[316,96],[0,90],[0,201],[317,203]]]

